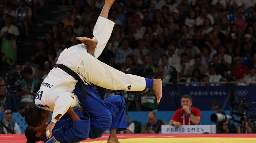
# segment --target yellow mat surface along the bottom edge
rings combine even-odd
[[[106,143],[106,140],[90,143]],[[129,138],[120,143],[256,143],[256,138]],[[89,142],[83,142],[89,143]]]

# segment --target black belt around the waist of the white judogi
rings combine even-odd
[[[74,79],[76,79],[77,81],[82,80],[79,75],[77,73],[75,73],[73,70],[71,70],[70,68],[68,68],[67,66],[63,65],[63,64],[56,64],[54,66],[54,68],[60,68],[62,70],[64,70],[66,73],[68,73],[69,75],[71,75]],[[84,83],[82,81],[82,100],[86,99],[86,91],[84,88]]]

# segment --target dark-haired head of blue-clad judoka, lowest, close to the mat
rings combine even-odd
[[[45,136],[45,129],[48,124],[43,124],[38,127],[27,126],[25,130],[25,137],[28,139],[27,143],[36,143]]]

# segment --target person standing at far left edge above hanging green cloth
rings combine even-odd
[[[12,60],[14,63],[14,60],[16,58],[16,49],[17,49],[16,39],[19,36],[19,30],[16,26],[12,24],[12,20],[13,20],[13,17],[10,15],[7,15],[5,17],[4,19],[5,26],[1,29],[0,39],[3,40],[3,43],[2,43],[3,47],[1,49],[4,54],[7,53],[6,50],[10,50],[9,49],[10,46],[13,48],[13,55],[8,55],[8,57],[10,58],[10,56],[13,56],[11,58],[13,58]]]

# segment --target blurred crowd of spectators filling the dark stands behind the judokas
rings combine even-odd
[[[44,13],[42,8],[47,2],[0,0],[1,62],[22,73],[17,93],[24,103],[33,102],[60,53],[80,44],[77,36],[93,37],[93,27],[104,5],[104,0],[55,0],[52,3],[56,6],[70,6],[66,18],[51,25],[45,40],[38,40],[32,56],[23,59],[25,62],[18,61],[17,42],[29,40],[33,16]],[[164,84],[204,86],[239,81],[243,82],[239,85],[255,85],[255,0],[116,0],[109,19],[115,26],[98,59],[124,73],[160,78]],[[4,78],[0,80],[4,85]],[[8,92],[6,86],[0,89],[3,105]],[[158,107],[152,89],[97,89],[102,98],[122,95],[128,110]],[[137,98],[140,102],[134,104]]]

